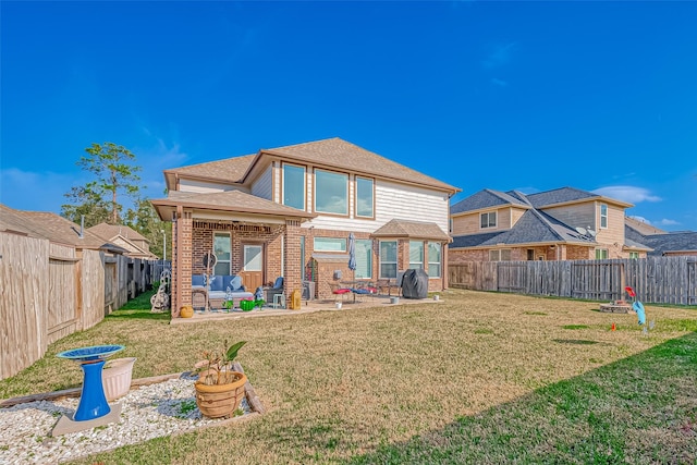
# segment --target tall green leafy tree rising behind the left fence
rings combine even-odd
[[[93,144],[85,151],[87,156],[82,157],[76,164],[97,179],[84,186],[72,187],[65,197],[73,205],[63,205],[61,215],[73,222],[80,222],[80,217],[85,215],[86,227],[102,221],[119,224],[123,210],[123,206],[119,204],[119,194],[125,194],[135,204],[139,201],[140,178],[137,172],[140,167],[131,164],[135,161],[135,155],[110,142],[103,145]],[[108,212],[106,218],[105,211]]]

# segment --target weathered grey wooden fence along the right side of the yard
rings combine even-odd
[[[452,287],[617,301],[632,286],[655,304],[697,305],[697,258],[467,261],[448,267]]]

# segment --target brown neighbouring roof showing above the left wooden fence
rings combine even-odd
[[[126,252],[109,243],[94,232],[83,231],[80,225],[51,212],[15,210],[0,204],[0,231],[25,234],[29,237],[47,238],[52,243],[77,248],[103,249],[121,254]]]

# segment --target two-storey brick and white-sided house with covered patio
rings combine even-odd
[[[448,215],[458,189],[340,138],[166,170],[173,221],[172,309],[191,305],[192,274],[240,274],[247,290],[284,277],[286,295],[314,282],[396,278],[423,267],[447,286]],[[355,236],[356,270],[347,268]],[[339,278],[341,277],[341,278]]]

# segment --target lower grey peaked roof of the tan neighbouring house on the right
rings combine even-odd
[[[575,230],[537,210],[527,210],[512,229],[453,237],[451,248],[535,243],[590,245],[595,240],[580,236]]]

